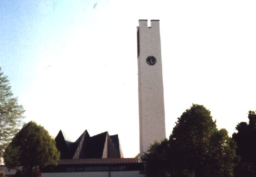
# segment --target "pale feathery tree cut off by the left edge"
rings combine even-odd
[[[24,109],[13,97],[9,80],[0,68],[0,160],[4,148],[17,134],[23,118]]]

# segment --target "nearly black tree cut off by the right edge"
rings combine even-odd
[[[240,122],[233,139],[237,143],[236,153],[241,156],[235,168],[235,177],[256,177],[256,112],[248,112],[249,123]]]

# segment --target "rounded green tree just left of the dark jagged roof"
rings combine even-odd
[[[22,166],[31,177],[33,168],[57,164],[60,159],[55,141],[48,131],[35,122],[23,125],[4,151],[4,162],[8,168]]]

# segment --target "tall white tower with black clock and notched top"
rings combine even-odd
[[[137,27],[140,155],[165,135],[165,105],[159,20],[139,20]]]

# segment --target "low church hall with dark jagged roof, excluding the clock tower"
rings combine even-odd
[[[56,147],[61,153],[57,166],[48,165],[42,177],[142,177],[143,164],[138,158],[123,158],[118,135],[103,132],[95,136],[85,130],[72,142],[61,130],[57,134]]]

